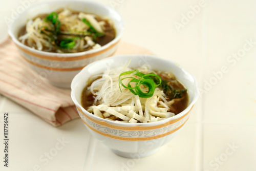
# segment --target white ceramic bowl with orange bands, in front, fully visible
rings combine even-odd
[[[80,102],[81,93],[87,85],[88,78],[102,73],[107,69],[107,66],[114,68],[123,65],[129,59],[132,59],[129,66],[131,68],[146,63],[153,70],[174,73],[187,89],[189,97],[187,108],[173,117],[151,123],[114,122],[92,115],[83,109]],[[148,55],[120,55],[93,62],[83,68],[71,83],[71,97],[79,116],[92,135],[119,156],[139,158],[155,153],[159,147],[175,137],[187,121],[189,112],[199,97],[199,90],[195,77],[173,61]]]

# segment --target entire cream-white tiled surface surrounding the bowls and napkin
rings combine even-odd
[[[0,2],[1,18],[25,1]],[[79,119],[55,128],[0,96],[0,127],[4,112],[10,113],[10,167],[1,162],[0,170],[256,170],[256,44],[241,59],[230,57],[242,52],[247,41],[256,42],[256,1],[97,2],[119,2],[115,9],[125,22],[122,40],[172,59],[196,76],[201,96],[191,117],[174,140],[135,161],[114,155]],[[177,29],[175,23],[184,22],[183,16],[200,3],[198,13]],[[7,26],[3,19],[0,24],[1,41]],[[221,76],[223,67],[228,71]],[[56,151],[62,138],[68,143]],[[230,151],[232,144],[239,147]],[[3,149],[0,143],[0,156]],[[49,163],[47,153],[53,157]]]

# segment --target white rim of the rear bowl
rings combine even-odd
[[[45,52],[45,51],[40,51],[37,49],[33,49],[29,46],[26,46],[24,44],[22,44],[22,42],[20,42],[18,40],[18,38],[15,36],[15,33],[13,32],[13,28],[15,27],[15,21],[18,20],[19,18],[22,18],[24,15],[26,15],[26,13],[30,10],[33,9],[34,7],[38,7],[40,5],[45,5],[45,4],[59,4],[60,7],[62,8],[63,5],[67,5],[67,4],[82,4],[82,5],[87,5],[87,4],[93,4],[96,6],[99,6],[101,8],[105,8],[106,10],[108,10],[111,14],[115,15],[115,18],[117,20],[119,20],[119,24],[120,24],[120,29],[118,30],[118,34],[116,33],[116,37],[111,40],[110,42],[108,42],[108,44],[98,48],[98,49],[92,49],[89,51],[83,51],[83,52],[76,52],[76,53],[55,53],[55,52]],[[29,18],[27,18],[29,19]],[[110,18],[113,19],[113,18]],[[117,28],[114,25],[116,32],[117,32]],[[97,53],[100,51],[103,51],[105,49],[108,49],[109,47],[113,46],[114,44],[116,44],[120,39],[121,36],[123,34],[123,29],[124,29],[124,23],[123,23],[123,19],[121,18],[121,16],[117,13],[117,11],[115,11],[113,8],[100,4],[98,2],[94,2],[94,1],[67,1],[67,0],[63,0],[63,1],[51,1],[51,2],[38,2],[38,3],[34,3],[32,4],[29,8],[27,8],[22,14],[19,14],[19,16],[17,18],[14,19],[14,21],[9,25],[8,27],[8,34],[10,35],[10,37],[12,38],[12,40],[15,42],[15,44],[25,50],[31,51],[35,54],[39,54],[39,55],[45,55],[45,56],[57,56],[57,57],[75,57],[75,56],[83,56],[83,55],[88,55],[88,54],[93,54],[93,53]]]

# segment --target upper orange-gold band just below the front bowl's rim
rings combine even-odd
[[[194,106],[194,105],[193,105]],[[193,106],[191,107],[191,109],[193,108]],[[191,109],[185,114],[183,115],[182,117],[180,118],[177,118],[177,119],[174,119],[174,120],[170,120],[168,122],[165,122],[163,124],[160,124],[160,125],[155,125],[155,126],[129,126],[129,127],[126,127],[126,126],[117,126],[117,125],[113,125],[113,124],[110,124],[108,122],[105,122],[105,121],[99,121],[99,120],[96,120],[96,119],[93,119],[89,116],[87,116],[86,114],[84,114],[82,112],[82,110],[80,108],[78,108],[76,106],[77,110],[83,114],[84,117],[88,118],[89,120],[91,120],[92,122],[94,123],[97,123],[99,125],[102,125],[102,126],[106,126],[106,127],[110,127],[112,129],[116,129],[116,130],[126,130],[126,131],[147,131],[147,130],[155,130],[155,129],[159,129],[161,127],[165,127],[167,125],[170,125],[170,124],[173,124],[175,122],[178,122],[180,121],[181,119],[183,119],[184,117],[186,117],[188,115],[188,113],[191,111]]]

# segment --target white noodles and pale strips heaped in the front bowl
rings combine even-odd
[[[145,66],[138,70],[143,70],[145,73],[152,72],[148,71]],[[156,122],[174,116],[173,113],[168,112],[168,102],[164,98],[163,91],[159,88],[155,89],[150,98],[140,98],[121,85],[120,91],[118,78],[120,73],[125,71],[132,71],[132,69],[128,68],[127,65],[115,69],[108,68],[103,74],[100,74],[101,78],[92,82],[88,90],[95,95],[95,104],[99,103],[99,105],[90,106],[89,110],[98,109],[96,116],[102,114],[104,118],[108,118],[114,115],[124,122],[130,123]],[[124,75],[121,79],[129,76],[131,75]],[[127,78],[123,79],[122,82],[126,85],[130,80]],[[143,87],[141,88],[143,89]]]

